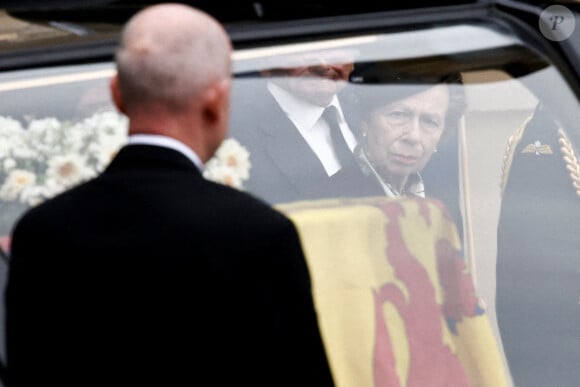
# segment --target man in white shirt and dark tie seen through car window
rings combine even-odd
[[[350,49],[292,54],[237,80],[231,135],[250,153],[245,189],[270,203],[383,195],[352,154],[358,136],[343,94],[355,57]]]

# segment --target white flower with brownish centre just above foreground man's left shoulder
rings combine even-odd
[[[86,164],[83,156],[69,154],[54,156],[48,160],[47,180],[54,180],[58,185],[71,187],[93,176],[93,171]]]

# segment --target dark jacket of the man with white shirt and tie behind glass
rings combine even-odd
[[[270,203],[384,195],[354,162],[329,177],[264,80],[238,81],[233,98],[230,135],[250,152],[248,191]]]

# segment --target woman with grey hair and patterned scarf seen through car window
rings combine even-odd
[[[352,76],[364,174],[389,197],[441,200],[463,233],[458,128],[466,109],[460,73],[410,74],[374,63]]]

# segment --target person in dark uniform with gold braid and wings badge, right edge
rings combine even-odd
[[[580,385],[580,164],[565,129],[539,105],[505,158],[496,307],[516,386]]]

